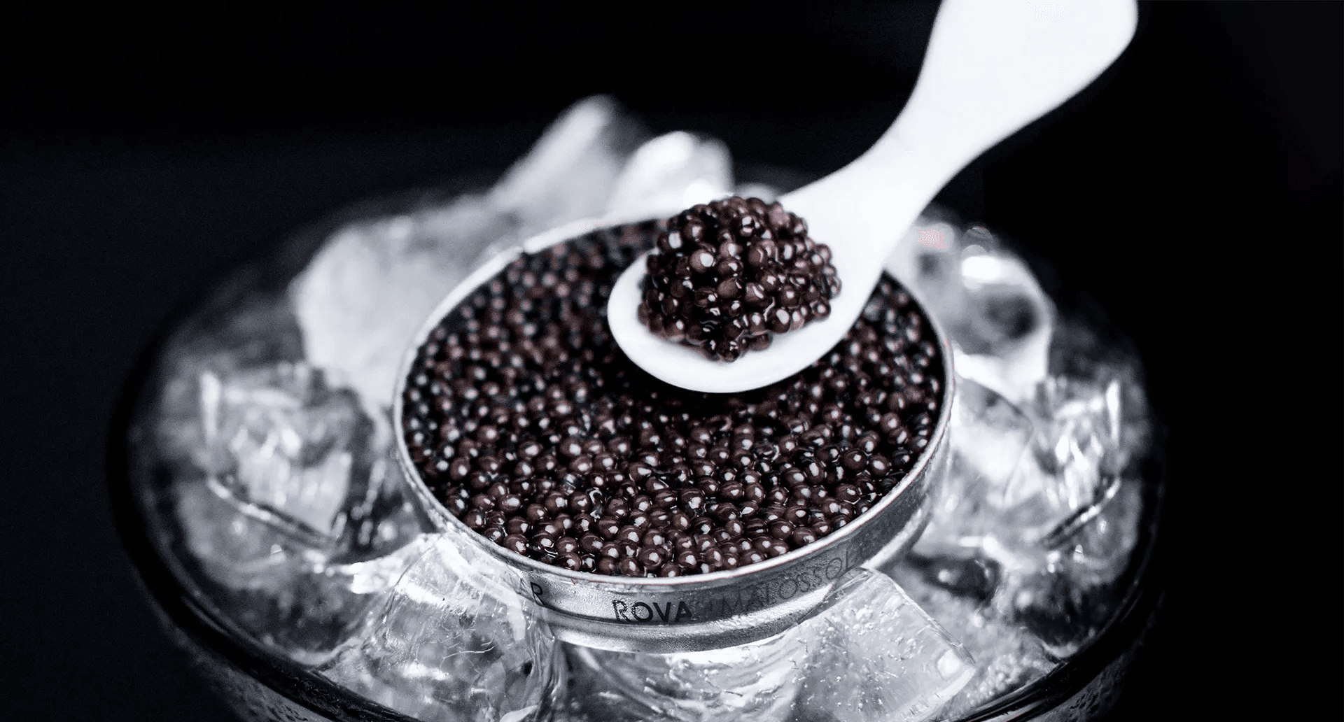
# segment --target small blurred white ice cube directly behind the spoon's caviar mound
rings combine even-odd
[[[732,156],[718,138],[676,130],[641,145],[616,181],[612,217],[667,217],[732,191]]]

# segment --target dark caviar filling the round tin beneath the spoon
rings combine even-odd
[[[929,444],[939,350],[890,278],[831,353],[767,388],[691,392],[633,365],[606,299],[659,225],[512,262],[419,348],[407,448],[495,544],[598,574],[735,569],[845,526]]]

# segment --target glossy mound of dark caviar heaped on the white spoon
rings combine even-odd
[[[731,197],[668,220],[648,258],[640,322],[698,349],[737,361],[770,346],[771,333],[831,315],[840,279],[831,248],[778,203]]]

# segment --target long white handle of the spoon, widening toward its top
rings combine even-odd
[[[863,156],[785,196],[785,205],[823,243],[863,256],[856,266],[880,263],[958,170],[1110,66],[1136,17],[1133,0],[943,0],[896,121]]]

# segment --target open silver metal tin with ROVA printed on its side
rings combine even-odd
[[[599,234],[638,238],[652,247],[655,220],[629,223],[585,220],[534,236],[500,252],[462,280],[434,309],[411,340],[396,376],[392,419],[396,456],[415,494],[434,522],[519,572],[546,609],[558,636],[577,644],[614,651],[677,652],[722,648],[780,633],[805,619],[836,580],[859,566],[880,566],[903,554],[927,523],[933,493],[949,459],[948,425],[954,376],[946,333],[913,303],[933,333],[943,378],[942,401],[927,444],[899,483],[848,525],[755,564],[671,578],[620,577],[562,569],[499,546],[454,517],[431,493],[417,467],[405,427],[407,378],[418,349],[458,305],[499,278],[516,259]],[[909,289],[906,289],[909,293]]]

